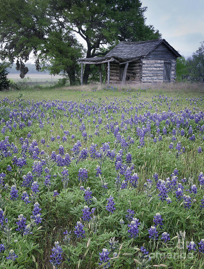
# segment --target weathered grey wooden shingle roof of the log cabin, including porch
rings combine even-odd
[[[109,51],[105,56],[93,57],[93,58],[81,58],[78,62],[105,62],[108,59],[116,59],[119,62],[125,62],[130,59],[137,57],[145,57],[151,51],[153,51],[158,45],[164,43],[176,57],[181,55],[165,40],[165,39],[152,39],[147,41],[139,42],[125,42],[122,41],[115,46],[111,51]]]

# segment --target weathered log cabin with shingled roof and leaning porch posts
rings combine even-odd
[[[176,59],[180,56],[165,39],[123,41],[105,56],[78,59],[78,63],[81,63],[81,85],[83,85],[83,64],[99,66],[101,84],[101,64],[105,64],[107,84],[175,82]]]

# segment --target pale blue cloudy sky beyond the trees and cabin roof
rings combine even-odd
[[[204,41],[204,0],[141,0],[147,7],[146,24],[153,25],[162,38],[188,57]],[[76,35],[86,48],[85,40]],[[30,58],[29,62],[34,63]]]

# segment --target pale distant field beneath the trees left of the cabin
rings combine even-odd
[[[24,79],[21,79],[19,74],[8,74],[7,76],[9,79],[14,80],[15,82],[18,81],[27,81],[27,82],[57,82],[59,78],[62,78],[62,76],[56,75],[51,76],[49,74],[27,74]]]

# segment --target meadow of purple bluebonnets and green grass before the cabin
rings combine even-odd
[[[203,268],[202,92],[0,96],[1,268]]]

